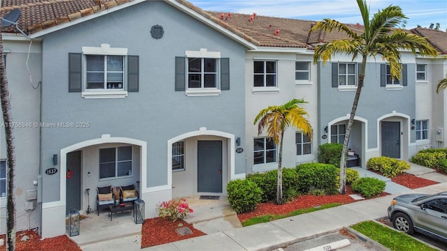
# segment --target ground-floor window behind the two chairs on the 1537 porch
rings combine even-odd
[[[132,146],[99,149],[99,178],[132,176]]]

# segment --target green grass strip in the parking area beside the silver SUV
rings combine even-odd
[[[360,222],[351,228],[381,243],[390,250],[436,250],[425,243],[411,238],[404,232],[394,231],[373,221]]]

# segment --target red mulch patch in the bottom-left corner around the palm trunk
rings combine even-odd
[[[28,241],[20,241],[23,236],[28,236]],[[6,250],[6,236],[3,234],[0,236],[5,240],[5,244],[0,246],[0,251]],[[53,238],[46,238],[41,240],[41,236],[38,236],[37,232],[34,230],[20,231],[17,232],[15,238],[15,250],[21,251],[43,251],[43,250],[54,250],[54,251],[82,251],[78,245],[76,245],[70,238],[66,235],[57,236]]]

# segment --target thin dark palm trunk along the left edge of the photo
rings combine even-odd
[[[14,197],[14,167],[15,154],[13,144],[13,121],[9,98],[8,79],[6,79],[5,61],[3,59],[3,38],[0,33],[0,99],[3,123],[6,135],[6,156],[8,158],[8,198],[6,202],[6,248],[15,250],[15,197]]]

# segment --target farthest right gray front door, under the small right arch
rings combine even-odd
[[[400,122],[382,122],[382,156],[400,158]]]

